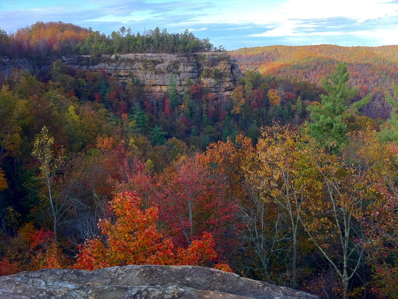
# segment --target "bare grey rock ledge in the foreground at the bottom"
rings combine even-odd
[[[194,266],[120,266],[96,271],[44,269],[0,277],[0,299],[316,298],[308,293]]]

